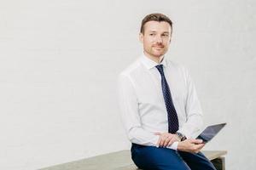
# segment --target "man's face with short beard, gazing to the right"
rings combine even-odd
[[[148,21],[144,25],[144,33],[140,33],[144,53],[148,57],[160,58],[166,54],[170,41],[172,28],[166,21]]]

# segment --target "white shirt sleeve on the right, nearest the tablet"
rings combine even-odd
[[[201,104],[196,94],[195,84],[189,76],[189,72],[186,69],[184,69],[183,72],[186,83],[185,86],[187,88],[185,104],[187,121],[178,132],[183,133],[187,138],[195,138],[201,132],[203,126]]]

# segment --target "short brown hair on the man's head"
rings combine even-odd
[[[142,20],[142,25],[141,25],[141,33],[144,33],[144,26],[148,21],[165,21],[168,22],[172,28],[172,20],[170,20],[165,14],[160,14],[160,13],[154,13],[154,14],[148,14],[145,16],[145,18]]]

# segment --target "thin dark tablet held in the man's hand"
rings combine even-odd
[[[202,139],[204,143],[209,142],[227,123],[220,123],[207,127],[196,139]]]

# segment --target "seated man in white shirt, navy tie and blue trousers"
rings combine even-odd
[[[202,126],[201,105],[188,71],[166,59],[172,20],[148,14],[139,39],[143,55],[119,75],[119,105],[131,158],[141,169],[212,170],[192,139]]]

